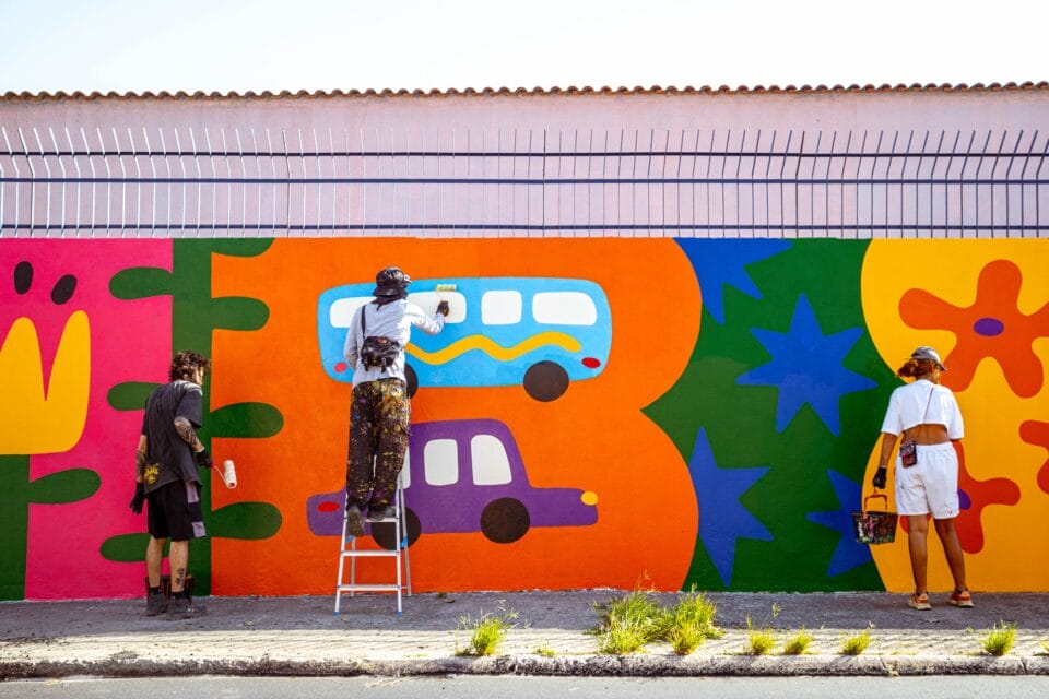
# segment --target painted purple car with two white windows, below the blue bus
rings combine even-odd
[[[412,425],[401,472],[408,543],[420,534],[481,531],[498,544],[516,542],[532,526],[585,526],[598,521],[598,496],[578,488],[534,488],[509,428],[495,419]],[[306,521],[318,536],[339,536],[345,490],[314,495]],[[390,531],[385,531],[389,529]],[[373,537],[393,548],[392,524]]]

